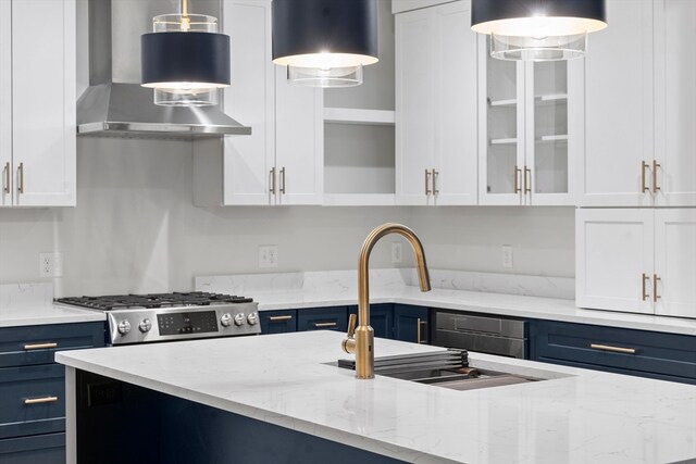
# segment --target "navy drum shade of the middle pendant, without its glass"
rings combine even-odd
[[[376,61],[376,1],[274,0],[273,60],[328,52]]]

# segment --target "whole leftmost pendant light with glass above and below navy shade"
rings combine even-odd
[[[140,37],[142,87],[154,89],[154,104],[210,106],[217,89],[229,86],[229,37],[217,34],[217,18],[181,14],[152,20],[153,33]]]

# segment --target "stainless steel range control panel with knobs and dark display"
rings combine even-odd
[[[258,303],[129,309],[108,313],[112,344],[258,335]]]

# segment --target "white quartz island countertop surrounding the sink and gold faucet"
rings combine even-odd
[[[696,457],[696,387],[471,354],[546,381],[455,391],[328,363],[308,331],[60,352],[88,372],[418,463],[667,463]],[[377,339],[375,353],[439,350]],[[204,361],[204,362],[202,362]],[[183,368],[184,367],[184,368]]]

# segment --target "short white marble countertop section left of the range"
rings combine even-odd
[[[0,327],[70,324],[105,321],[104,313],[60,305],[29,305],[0,309]]]

